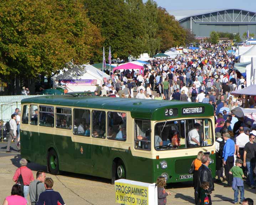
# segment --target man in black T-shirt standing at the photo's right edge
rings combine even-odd
[[[254,168],[256,164],[255,152],[256,152],[256,143],[255,140],[256,131],[252,130],[249,135],[249,142],[245,144],[244,148],[244,167],[247,167],[248,177],[246,179],[246,184],[250,185],[252,189],[255,189],[254,183]]]

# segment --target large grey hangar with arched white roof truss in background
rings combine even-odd
[[[176,10],[169,11],[184,28],[190,29],[196,38],[209,37],[211,31],[254,33],[256,38],[256,12],[240,9],[224,10]],[[245,39],[243,39],[245,40]]]

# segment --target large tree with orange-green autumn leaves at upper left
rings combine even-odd
[[[51,76],[67,62],[87,63],[101,41],[80,0],[6,1],[0,5],[0,78]]]

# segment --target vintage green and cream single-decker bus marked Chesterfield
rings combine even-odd
[[[21,156],[52,174],[185,182],[199,151],[213,159],[215,173],[210,104],[81,95],[21,103]]]

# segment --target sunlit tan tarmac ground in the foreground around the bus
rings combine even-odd
[[[2,146],[1,146],[2,150]],[[19,167],[20,155],[0,152],[0,204],[4,198],[10,195],[11,187],[14,184],[12,177]],[[4,156],[5,155],[5,156]],[[8,155],[8,156],[7,156]],[[46,171],[45,166],[35,163],[27,165],[32,169],[34,177],[37,170]],[[66,205],[114,205],[115,192],[111,180],[92,177],[83,174],[62,172],[61,175],[54,176],[49,173],[54,181],[53,189],[60,192]],[[230,205],[233,204],[234,191],[232,188],[224,188],[224,183],[215,184],[215,191],[211,195],[213,204]],[[167,197],[167,204],[190,205],[194,202],[194,189],[191,182],[170,184],[166,188],[171,193]],[[250,197],[256,201],[256,190],[245,185],[245,197]]]

